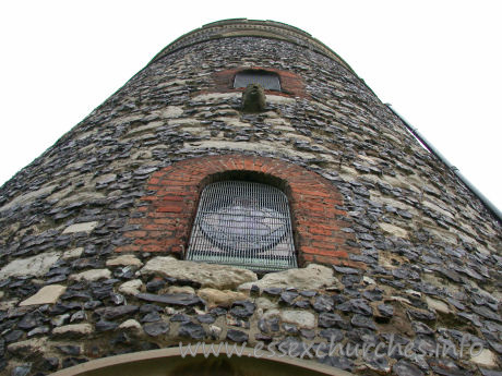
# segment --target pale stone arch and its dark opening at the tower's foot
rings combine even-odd
[[[237,345],[239,351],[240,345]],[[225,347],[222,347],[225,349]],[[183,353],[188,352],[187,348]],[[345,371],[313,361],[277,356],[265,351],[244,348],[242,355],[228,357],[225,351],[219,356],[207,359],[203,350],[192,349],[182,357],[180,348],[141,351],[82,363],[64,368],[52,376],[351,376]],[[258,357],[260,355],[260,357]],[[202,372],[201,372],[202,371]],[[214,372],[213,372],[214,371]],[[224,371],[225,373],[222,373]]]

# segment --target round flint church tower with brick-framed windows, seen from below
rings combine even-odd
[[[492,211],[309,34],[208,24],[1,187],[0,369],[500,376]]]

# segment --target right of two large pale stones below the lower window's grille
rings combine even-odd
[[[239,290],[250,290],[253,284],[256,284],[261,290],[267,288],[319,290],[326,287],[343,289],[343,284],[334,276],[333,268],[318,264],[310,264],[300,269],[268,272],[254,283],[248,282],[239,286]]]

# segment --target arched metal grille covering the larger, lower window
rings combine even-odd
[[[286,195],[254,182],[223,181],[201,195],[187,259],[254,271],[297,267]]]

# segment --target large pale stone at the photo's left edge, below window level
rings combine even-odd
[[[59,252],[47,252],[27,258],[14,259],[0,270],[0,280],[9,277],[41,277],[49,271],[52,265],[59,259]]]

